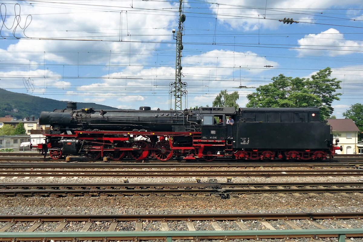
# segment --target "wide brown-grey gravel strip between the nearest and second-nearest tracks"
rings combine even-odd
[[[0,197],[0,214],[234,214],[362,212],[362,194],[167,197]]]

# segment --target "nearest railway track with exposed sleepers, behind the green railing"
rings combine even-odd
[[[15,238],[20,241],[29,241],[29,238],[32,238],[30,241],[50,239],[72,241],[75,237],[77,237],[75,241],[138,241],[163,239],[160,238],[160,234],[163,233],[157,231],[169,231],[164,233],[164,238],[170,236],[195,241],[200,239],[229,241],[234,238],[317,239],[337,237],[337,233],[349,234],[349,237],[362,237],[362,216],[362,213],[0,215],[0,221],[3,223],[0,227],[0,236],[2,241],[14,241]],[[151,230],[148,226],[150,221],[155,221]],[[19,223],[25,233],[11,233],[17,231]],[[100,224],[104,225],[102,229],[99,227]],[[203,230],[206,231],[198,231],[202,224]],[[335,233],[327,231],[331,226],[337,227]],[[344,231],[341,231],[342,229]],[[73,232],[74,230],[80,233]],[[44,233],[44,231],[50,232]],[[136,234],[137,239],[135,239]],[[171,238],[167,241],[171,241]]]

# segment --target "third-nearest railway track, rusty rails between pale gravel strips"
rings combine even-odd
[[[0,177],[286,177],[363,176],[362,169],[321,170],[31,170],[3,169]]]

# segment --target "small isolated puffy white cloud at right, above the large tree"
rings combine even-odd
[[[345,40],[343,34],[337,29],[330,28],[319,34],[305,35],[298,40],[300,45],[299,55],[314,56],[339,56],[351,54],[351,51],[360,51],[363,47],[362,41]]]

